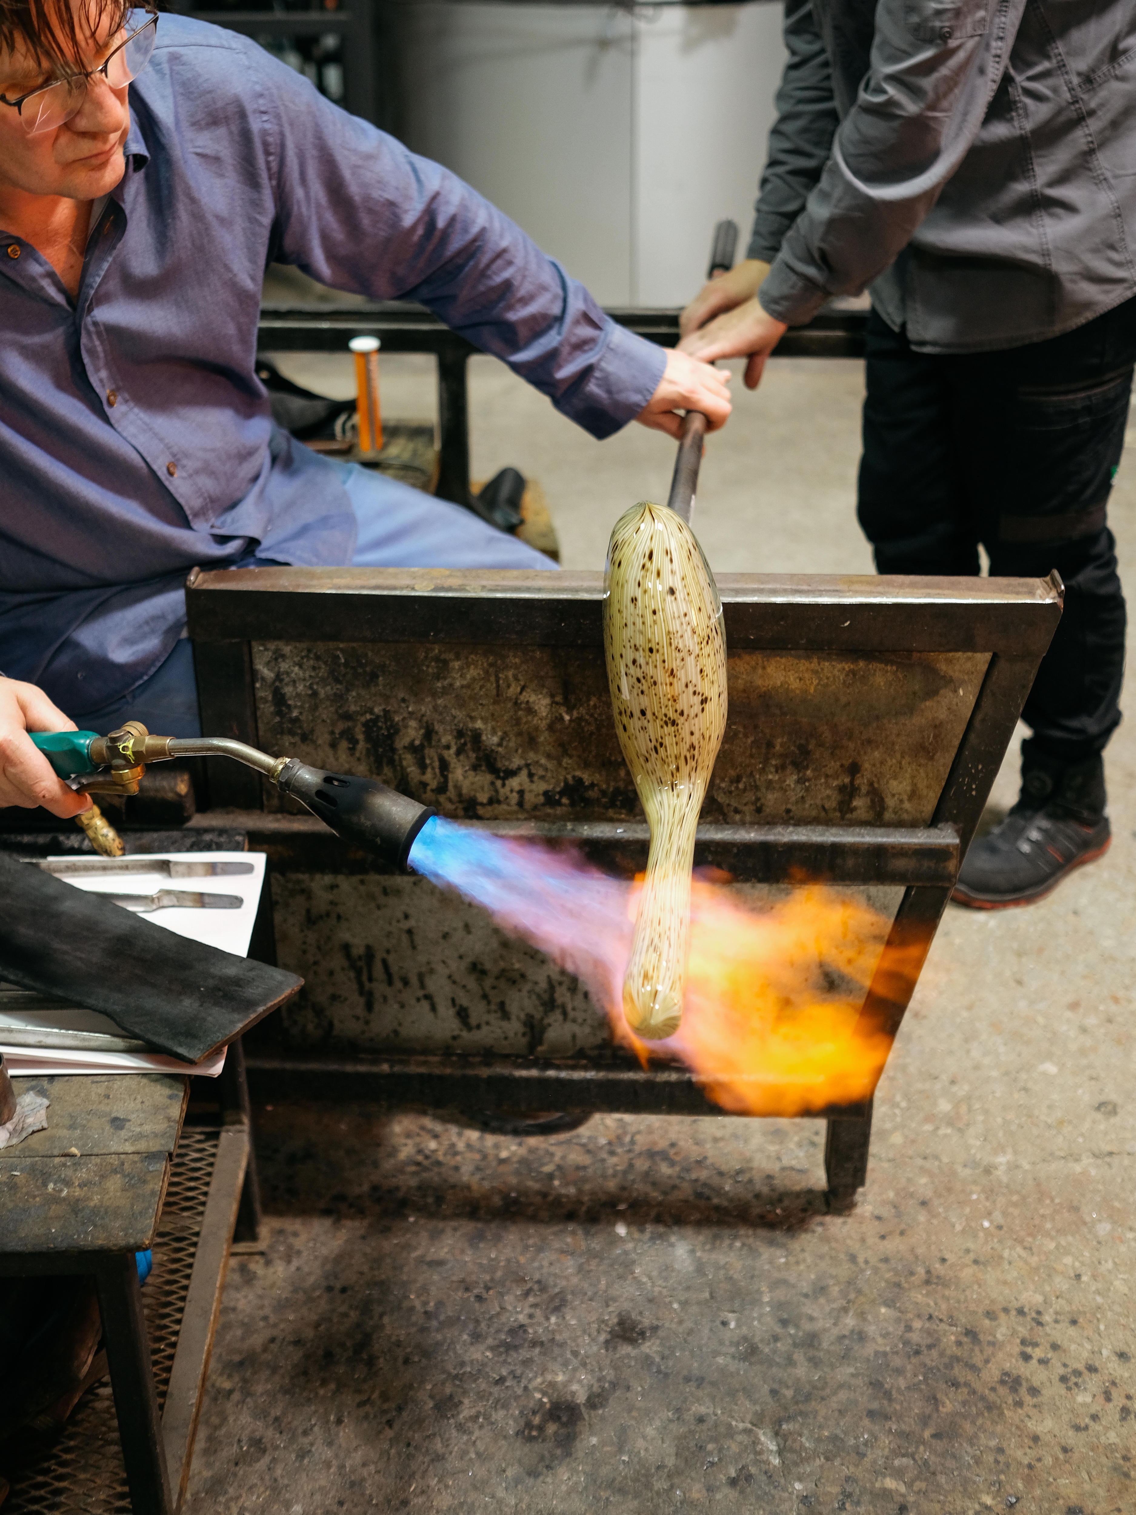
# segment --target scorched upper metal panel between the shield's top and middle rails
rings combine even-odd
[[[703,820],[928,824],[988,662],[733,648]],[[459,820],[642,815],[603,647],[257,642],[253,664],[267,750],[371,774]]]

